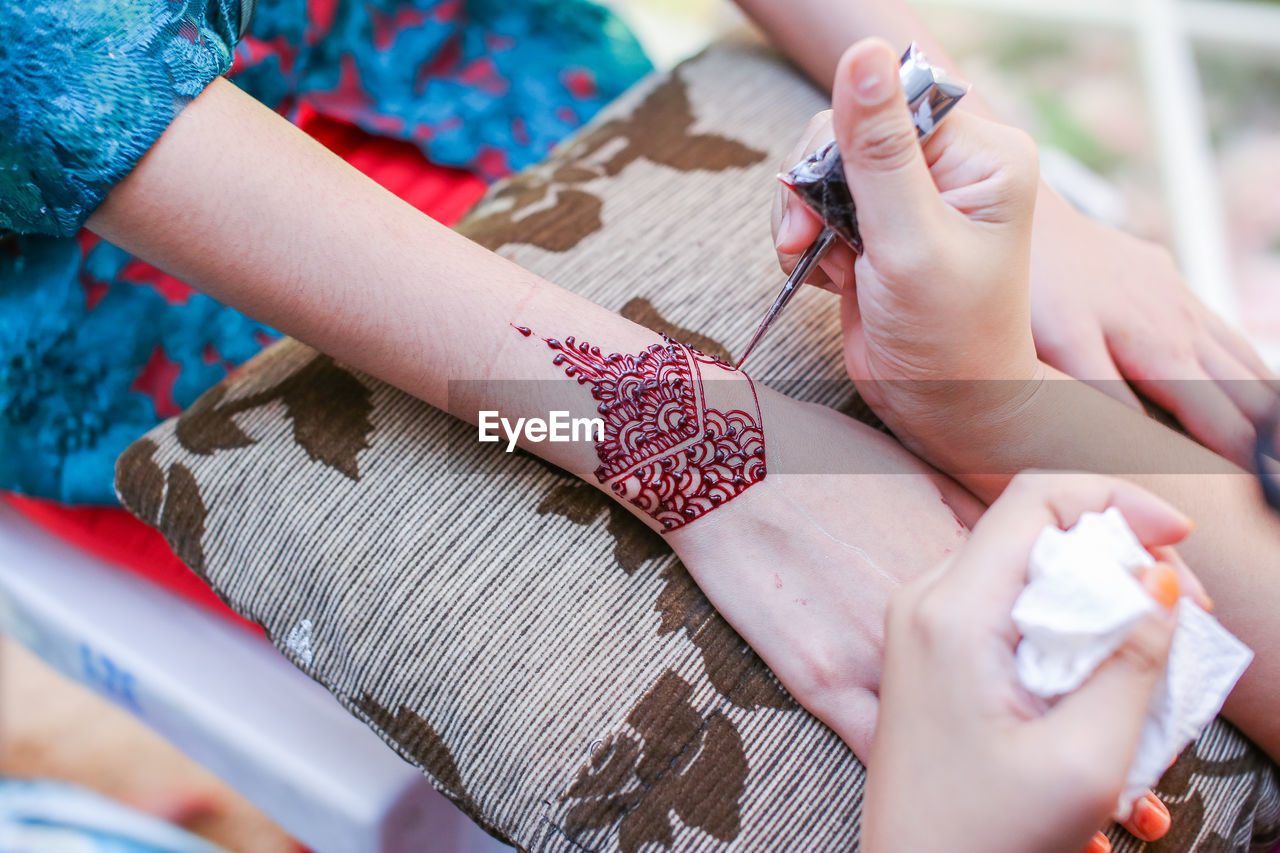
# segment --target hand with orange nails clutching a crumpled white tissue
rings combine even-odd
[[[1039,532],[1110,506],[1157,555],[1169,556],[1190,530],[1181,512],[1121,480],[1023,474],[965,546],[895,593],[863,807],[865,850],[1107,849],[1105,838],[1091,836],[1115,809],[1167,661],[1175,570],[1148,570],[1143,583],[1165,608],[1048,711],[1014,676],[1010,612]]]

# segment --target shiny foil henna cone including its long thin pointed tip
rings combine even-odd
[[[915,134],[922,141],[938,129],[942,120],[969,91],[968,83],[957,81],[941,68],[929,64],[928,58],[915,46],[915,42],[911,42],[906,53],[902,54],[899,79],[902,82],[902,93],[906,96],[906,105],[911,111]],[[791,301],[813,266],[831,248],[836,237],[849,243],[855,255],[863,254],[863,237],[858,231],[858,207],[849,190],[849,182],[845,179],[845,163],[835,141],[818,149],[788,172],[780,174],[778,179],[787,184],[800,201],[822,219],[826,227],[809,248],[800,255],[796,269],[787,277],[782,291],[773,300],[773,305],[765,313],[764,320],[760,321],[751,337],[751,342],[746,345],[746,350],[737,360],[740,369],[782,313],[782,309]]]

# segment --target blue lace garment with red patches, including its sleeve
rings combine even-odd
[[[0,0],[0,488],[114,502],[119,452],[276,337],[81,231],[219,74],[492,179],[649,70],[586,0],[256,5]]]

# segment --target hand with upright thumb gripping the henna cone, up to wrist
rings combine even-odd
[[[832,123],[865,243],[856,280],[842,280],[846,368],[920,451],[965,416],[937,380],[965,382],[963,402],[987,416],[1016,407],[1042,369],[1028,295],[1036,149],[956,111],[922,151],[897,58],[874,38],[841,60]],[[979,382],[993,379],[1011,382]]]

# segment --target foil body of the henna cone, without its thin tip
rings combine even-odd
[[[966,83],[931,65],[914,42],[902,54],[899,78],[902,81],[902,92],[906,95],[915,133],[920,140],[936,131],[947,113],[969,91]],[[835,142],[828,142],[814,151],[803,163],[780,175],[780,179],[818,214],[827,227],[861,255],[863,238],[858,232],[858,210],[849,191],[849,182],[845,181],[845,164],[840,158],[840,149]]]

